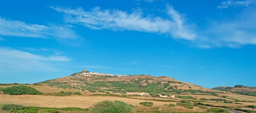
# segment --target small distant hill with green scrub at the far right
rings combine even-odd
[[[247,96],[256,96],[256,87],[249,87],[244,85],[235,85],[234,87],[219,86],[212,88],[213,90],[227,91],[231,93],[237,93]]]

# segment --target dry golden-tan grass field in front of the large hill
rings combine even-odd
[[[121,97],[106,97],[106,96],[42,96],[42,95],[5,95],[0,94],[1,104],[20,104],[24,106],[36,106],[36,107],[81,107],[88,108],[93,106],[94,103],[103,100],[120,100],[127,102],[131,105],[139,105],[140,102],[145,100],[140,99],[128,99]],[[153,102],[154,105],[165,105],[169,103],[175,104],[176,102]]]

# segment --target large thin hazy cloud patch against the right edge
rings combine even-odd
[[[205,31],[212,46],[239,48],[240,45],[256,45],[256,11],[245,10],[234,19],[212,21]],[[209,42],[209,41],[208,41]]]

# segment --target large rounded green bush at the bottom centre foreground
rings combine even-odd
[[[105,100],[97,102],[89,113],[134,113],[133,107],[122,101]]]

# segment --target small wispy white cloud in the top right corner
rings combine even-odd
[[[253,4],[256,4],[256,0],[244,0],[244,1],[227,0],[227,1],[221,2],[221,5],[217,6],[216,8],[221,9],[221,8],[239,7],[239,6],[248,7]]]

